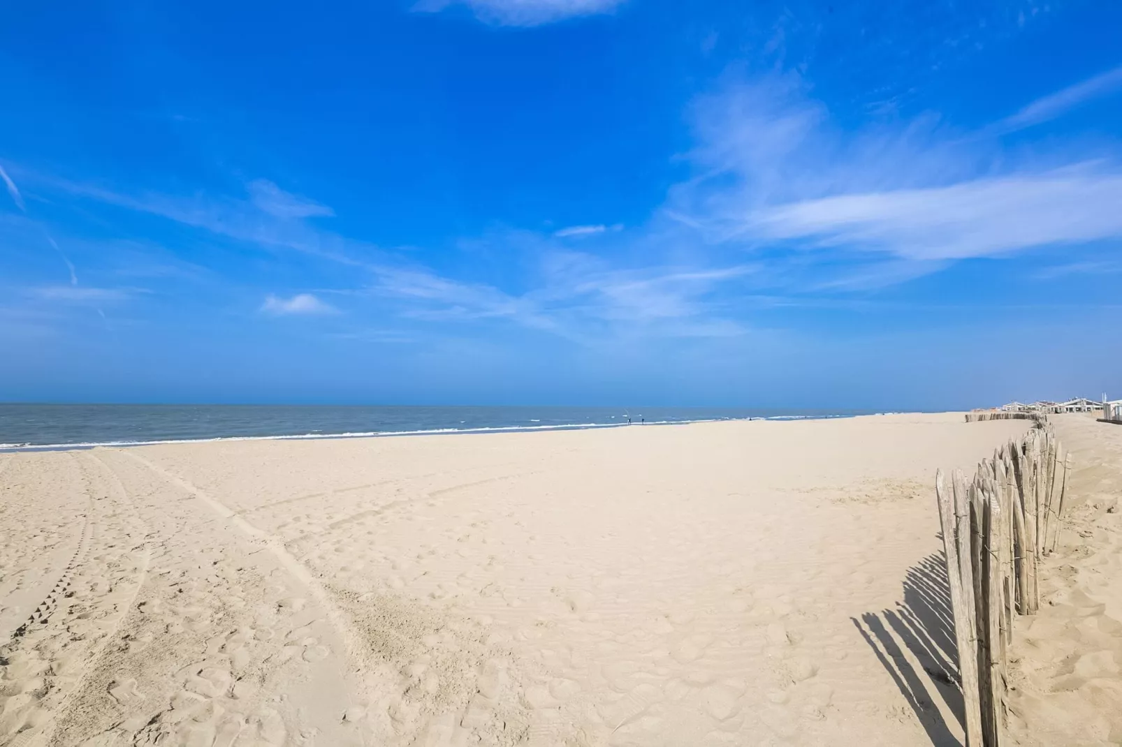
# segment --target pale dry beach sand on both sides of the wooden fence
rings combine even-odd
[[[957,744],[934,473],[1026,430],[962,419],[0,454],[0,745]],[[1018,706],[1116,739],[1077,511]]]

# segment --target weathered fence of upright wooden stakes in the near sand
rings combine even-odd
[[[1070,454],[1060,459],[1051,426],[1038,422],[983,460],[972,482],[955,470],[948,489],[936,473],[967,747],[1000,744],[1013,616],[1040,605],[1037,566],[1056,547],[1069,469]]]

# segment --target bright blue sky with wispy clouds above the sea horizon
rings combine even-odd
[[[1122,6],[24,3],[0,400],[1122,396]]]

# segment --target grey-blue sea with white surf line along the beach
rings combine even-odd
[[[729,407],[0,404],[0,450],[603,428],[862,414],[866,413]]]

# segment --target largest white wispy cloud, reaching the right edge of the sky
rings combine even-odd
[[[935,271],[1122,237],[1118,160],[1018,169],[996,144],[930,119],[843,136],[791,76],[733,85],[696,113],[699,176],[668,212],[709,241],[886,252]]]

